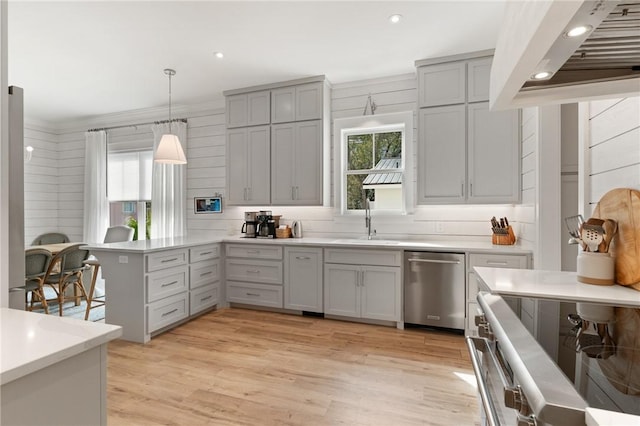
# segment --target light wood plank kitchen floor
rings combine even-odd
[[[222,309],[109,344],[113,425],[473,425],[462,336]],[[460,376],[461,375],[461,376]]]

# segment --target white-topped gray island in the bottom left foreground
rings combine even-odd
[[[122,328],[0,308],[1,424],[107,424],[107,343]]]

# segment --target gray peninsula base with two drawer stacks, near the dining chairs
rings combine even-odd
[[[124,340],[146,343],[219,302],[220,244],[92,253],[106,281],[105,320],[122,326]]]

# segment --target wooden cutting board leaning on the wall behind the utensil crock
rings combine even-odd
[[[612,189],[602,196],[593,217],[618,222],[609,248],[616,258],[616,283],[640,291],[640,191]]]

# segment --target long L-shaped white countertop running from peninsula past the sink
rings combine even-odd
[[[446,251],[446,252],[486,252],[486,253],[511,253],[530,254],[530,250],[525,250],[519,246],[494,245],[491,241],[424,241],[424,240],[385,240],[375,238],[244,238],[242,236],[219,236],[219,237],[175,237],[163,239],[151,239],[142,241],[129,241],[124,243],[109,244],[88,244],[90,250],[117,250],[121,252],[150,253],[171,248],[190,247],[211,243],[243,243],[243,244],[277,244],[287,246],[321,246],[321,247],[355,247],[355,248],[383,248],[397,250],[425,250],[425,251]]]

